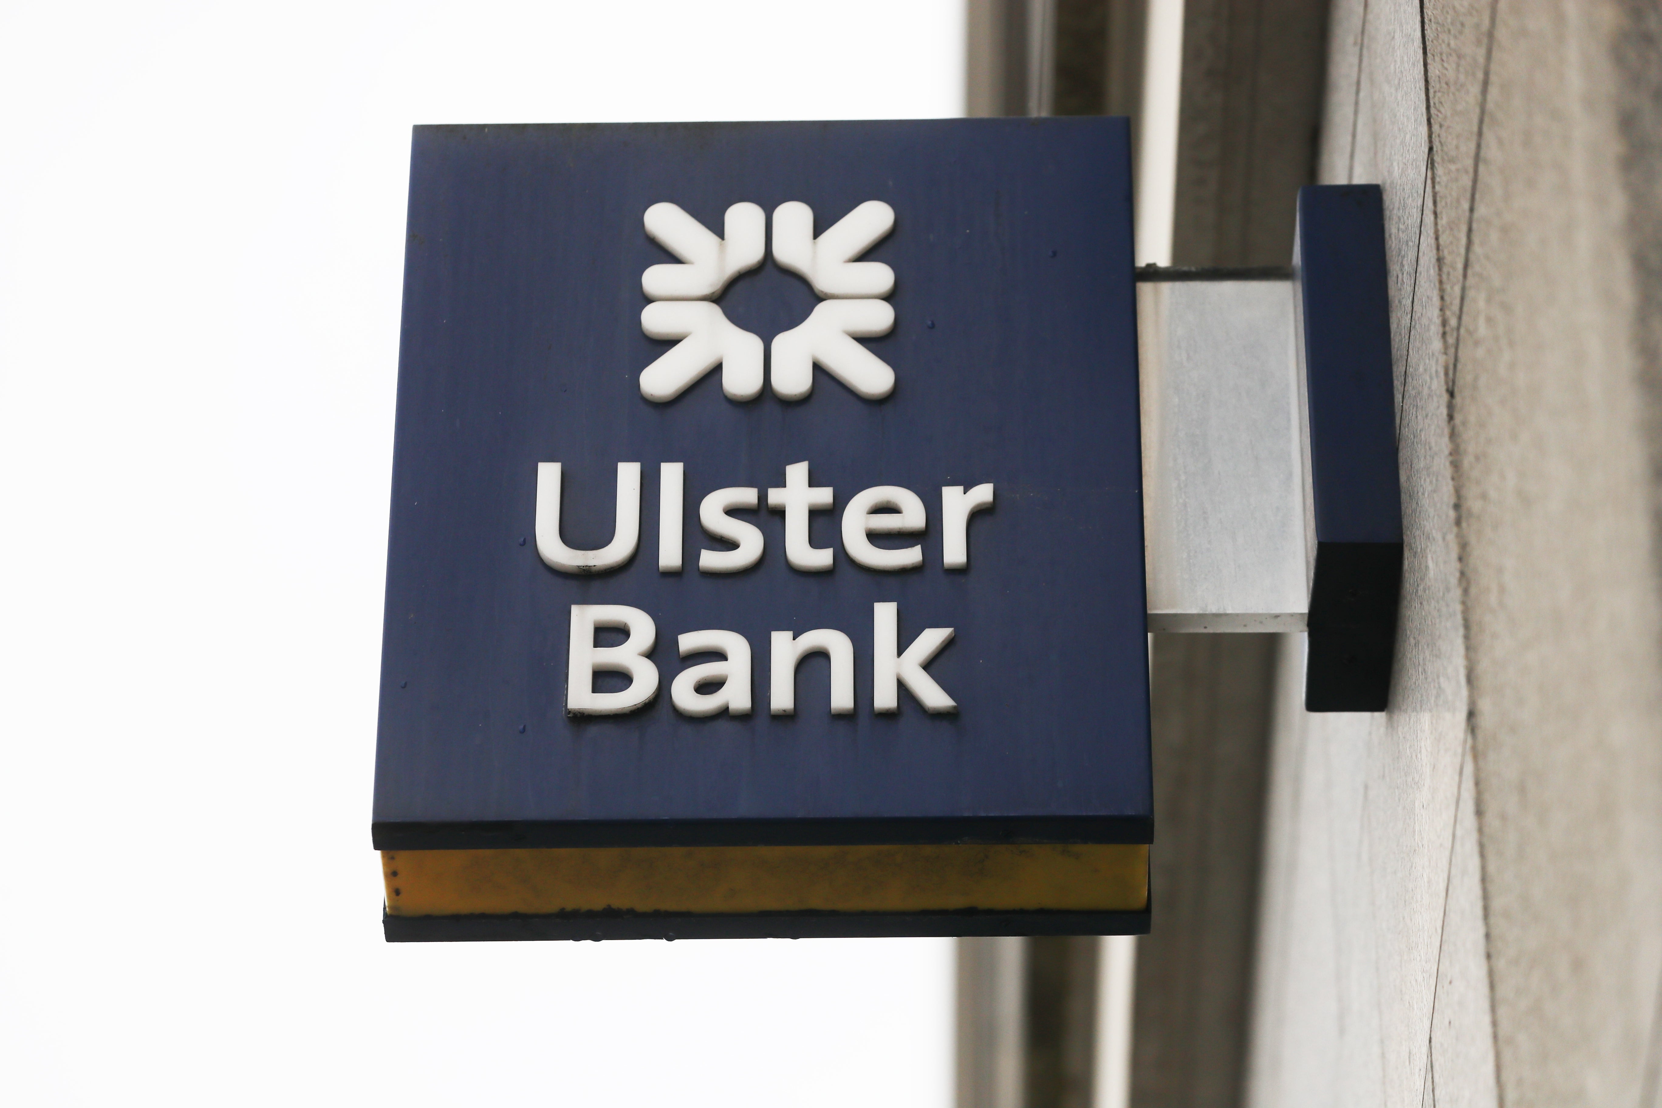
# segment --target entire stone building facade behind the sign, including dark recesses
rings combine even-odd
[[[1406,556],[1381,714],[1305,713],[1301,636],[1157,636],[1128,1103],[1655,1108],[1662,8],[1175,8],[1163,261],[1285,264],[1298,184],[1383,186]],[[971,110],[1127,113],[1158,151],[1160,18],[974,0]],[[992,970],[1015,1043],[1102,977],[1035,942]],[[1004,1100],[961,1065],[959,1100],[1124,1103],[1094,1065]]]

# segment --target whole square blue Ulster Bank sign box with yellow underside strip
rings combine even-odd
[[[417,128],[392,939],[1137,930],[1120,120]]]

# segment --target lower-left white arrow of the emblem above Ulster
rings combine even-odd
[[[761,339],[735,327],[720,306],[705,301],[648,304],[640,311],[640,329],[652,339],[680,339],[640,372],[640,394],[648,400],[673,400],[716,364],[721,365],[721,392],[728,400],[755,400],[761,394]],[[889,375],[892,379],[894,374]]]

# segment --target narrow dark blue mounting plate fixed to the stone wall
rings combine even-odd
[[[1403,492],[1378,184],[1298,191],[1293,291],[1310,482],[1305,709],[1384,711],[1403,583]]]

